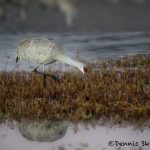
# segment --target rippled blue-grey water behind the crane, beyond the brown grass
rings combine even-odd
[[[0,35],[0,70],[32,70],[35,64],[15,63],[15,49],[17,44],[29,37],[47,37],[61,41],[66,53],[72,58],[79,57],[94,61],[97,58],[121,57],[140,53],[150,53],[150,32],[120,32],[120,33],[82,33],[82,34],[54,34],[54,33],[20,33]],[[79,55],[78,55],[79,53]],[[52,65],[59,68],[60,64]],[[64,65],[61,65],[63,68]],[[66,66],[65,66],[66,67]],[[68,67],[66,67],[68,68]],[[65,69],[66,69],[65,68]]]

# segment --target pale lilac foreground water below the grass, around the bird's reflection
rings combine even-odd
[[[125,145],[125,143],[127,145]],[[130,143],[130,145],[129,145]],[[92,127],[70,124],[62,138],[49,142],[36,142],[23,137],[16,125],[0,126],[1,150],[149,150],[150,130],[132,126]]]

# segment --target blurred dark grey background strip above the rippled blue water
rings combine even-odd
[[[0,0],[0,33],[149,29],[149,0]]]

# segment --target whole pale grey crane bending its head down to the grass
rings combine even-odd
[[[77,67],[82,73],[87,72],[86,65],[84,63],[75,61],[65,55],[64,46],[62,43],[47,38],[31,38],[22,41],[16,52],[16,63],[19,60],[26,60],[37,63],[37,67],[34,69],[37,72],[39,66],[43,65],[43,75],[45,83],[45,65],[54,63],[55,61],[61,61],[63,63],[73,65]]]

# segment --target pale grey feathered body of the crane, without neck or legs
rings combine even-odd
[[[63,45],[46,38],[27,39],[17,47],[18,60],[48,64],[56,60],[56,55],[64,55]]]

